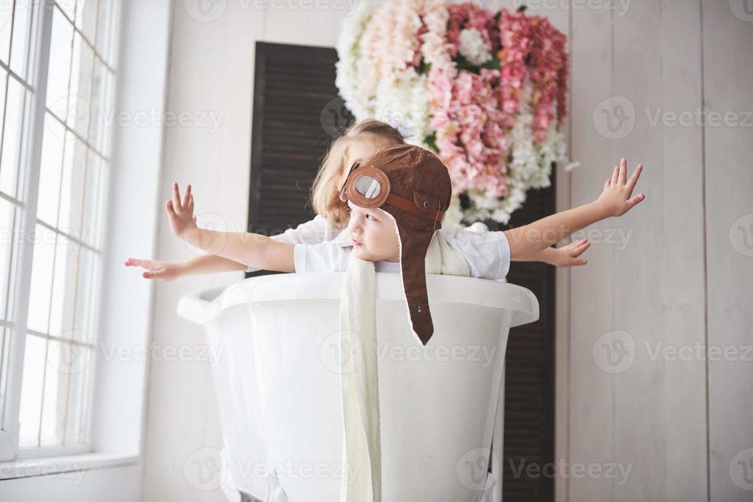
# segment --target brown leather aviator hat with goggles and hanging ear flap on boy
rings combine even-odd
[[[390,145],[350,167],[340,200],[380,208],[395,219],[408,322],[426,345],[434,334],[426,292],[425,260],[434,232],[450,206],[452,182],[447,167],[415,145]]]

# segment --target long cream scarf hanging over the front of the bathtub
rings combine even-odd
[[[428,247],[425,266],[427,274],[471,275],[465,258],[438,230]],[[351,254],[340,301],[344,426],[340,502],[382,501],[376,298],[373,262]]]

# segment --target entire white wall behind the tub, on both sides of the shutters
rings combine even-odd
[[[556,461],[631,468],[626,482],[560,471],[557,500],[748,500],[729,466],[753,447],[753,366],[699,357],[651,361],[645,342],[651,348],[751,343],[753,318],[745,306],[753,257],[741,254],[742,234],[730,240],[730,227],[753,212],[753,136],[742,126],[653,125],[645,107],[651,117],[701,106],[753,110],[753,23],[736,17],[727,0],[527,3],[529,14],[549,17],[571,45],[568,130],[572,157],[582,166],[559,173],[558,208],[598,196],[620,157],[631,171],[644,164],[639,190],[647,194],[623,218],[592,227],[599,242],[587,251],[587,266],[557,272]],[[255,5],[227,0],[204,16],[194,2],[173,5],[167,109],[224,115],[216,132],[166,129],[161,201],[172,181],[191,183],[197,212],[214,213],[200,221],[224,221],[230,230],[245,230],[247,218],[255,41],[332,47],[346,15]],[[630,120],[617,127],[622,137],[611,138],[602,111],[614,113],[623,102],[635,113],[628,110]],[[156,257],[190,256],[164,218],[159,225]],[[619,233],[615,243],[603,242],[620,231],[626,243]],[[187,288],[240,278],[242,272],[229,272],[157,284],[154,342],[201,345],[200,328],[175,315],[178,298]],[[615,347],[616,335],[608,333],[617,330],[636,348],[626,355],[633,357],[630,367],[610,373],[601,343]],[[218,490],[192,488],[184,476],[192,452],[221,443],[206,362],[154,361],[151,371],[144,500],[223,500]]]

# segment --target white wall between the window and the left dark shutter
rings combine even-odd
[[[177,0],[173,4],[167,109],[215,111],[217,117],[222,114],[221,126],[214,133],[194,126],[166,129],[160,194],[164,203],[173,181],[181,190],[191,183],[200,224],[203,219],[223,221],[228,230],[245,231],[255,42],[334,47],[339,20],[346,11],[258,9],[255,2],[227,0],[215,4],[216,10],[203,17],[197,10],[187,10],[196,3]],[[347,7],[346,2],[338,3]],[[162,218],[156,257],[177,260],[189,256],[191,251],[172,236]],[[175,314],[178,298],[187,289],[230,284],[242,278],[243,272],[226,272],[157,284],[154,342],[202,345],[200,327]],[[144,500],[224,500],[219,489],[194,489],[184,476],[184,463],[192,452],[221,446],[208,364],[154,361],[151,371]]]

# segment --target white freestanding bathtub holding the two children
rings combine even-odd
[[[246,278],[178,303],[222,350],[215,387],[224,488],[235,500],[233,484],[265,502],[340,500],[344,275]],[[508,330],[536,321],[538,302],[503,281],[428,275],[427,285],[434,336],[424,348],[407,327],[400,274],[377,273],[377,339],[388,349],[379,361],[383,500],[498,502]]]

